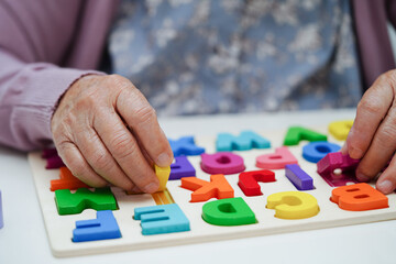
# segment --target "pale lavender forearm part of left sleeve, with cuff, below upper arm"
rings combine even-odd
[[[23,151],[52,142],[51,118],[61,96],[89,70],[23,63],[0,48],[0,143]]]

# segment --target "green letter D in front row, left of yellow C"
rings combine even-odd
[[[254,212],[241,197],[205,204],[202,219],[215,226],[241,226],[257,222]]]

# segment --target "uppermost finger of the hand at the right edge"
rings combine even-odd
[[[380,77],[358,105],[356,118],[346,139],[348,153],[362,158],[394,98],[389,73]]]

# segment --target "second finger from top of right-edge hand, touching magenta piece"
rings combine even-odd
[[[375,177],[388,163],[396,150],[396,108],[393,106],[374,134],[369,151],[356,168],[359,180]]]

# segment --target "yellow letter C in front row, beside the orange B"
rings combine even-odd
[[[268,196],[266,208],[275,209],[275,217],[282,219],[302,219],[318,215],[317,199],[307,193],[283,191]]]

